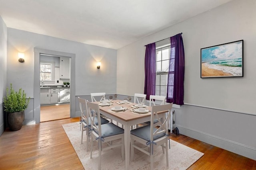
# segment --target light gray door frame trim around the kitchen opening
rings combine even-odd
[[[34,48],[34,121],[40,123],[40,53],[70,57],[70,117],[76,117],[75,61],[76,54]]]

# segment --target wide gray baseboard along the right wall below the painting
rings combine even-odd
[[[192,137],[199,141],[214,145],[216,147],[234,152],[247,158],[256,160],[256,148],[236,143],[227,139],[223,139],[214,135],[210,135],[201,131],[197,131],[188,127],[175,124],[178,127],[180,134]]]

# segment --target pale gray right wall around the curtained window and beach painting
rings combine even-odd
[[[117,93],[143,93],[144,45],[182,32],[185,105],[175,109],[180,133],[256,160],[255,9],[255,0],[233,0],[118,49]],[[201,48],[241,39],[244,77],[200,78]]]

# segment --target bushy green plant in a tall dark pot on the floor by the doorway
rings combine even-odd
[[[21,88],[18,92],[12,88],[6,88],[4,96],[4,111],[7,113],[7,122],[11,131],[21,129],[24,121],[24,111],[28,108],[30,97],[26,99],[26,93]]]

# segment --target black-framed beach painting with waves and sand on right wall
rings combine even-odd
[[[201,78],[242,76],[243,40],[201,49]]]

